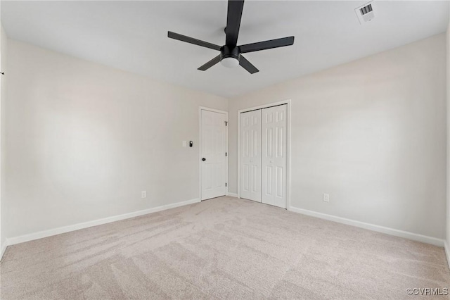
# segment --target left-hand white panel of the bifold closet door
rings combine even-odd
[[[240,113],[240,198],[261,202],[261,110]]]

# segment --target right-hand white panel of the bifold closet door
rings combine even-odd
[[[262,109],[262,203],[287,208],[287,105]]]

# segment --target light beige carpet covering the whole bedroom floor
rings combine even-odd
[[[406,289],[450,288],[440,247],[229,197],[10,246],[0,272],[1,299],[420,299]]]

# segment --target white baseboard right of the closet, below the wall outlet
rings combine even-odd
[[[376,232],[382,232],[387,235],[394,235],[396,237],[404,237],[405,239],[412,239],[414,241],[423,242],[423,243],[427,243],[427,244],[433,244],[433,245],[441,246],[441,247],[444,246],[444,239],[437,239],[436,237],[428,237],[426,235],[418,235],[413,232],[397,230],[397,229],[390,228],[390,227],[384,227],[384,226],[380,226],[380,225],[364,223],[364,222],[351,220],[351,219],[347,219],[347,218],[341,218],[341,217],[337,217],[335,215],[328,215],[326,213],[318,213],[316,211],[308,211],[307,209],[297,208],[297,207],[293,207],[293,206],[290,206],[289,210],[293,211],[295,213],[302,213],[304,215],[310,215],[311,217],[330,220],[330,221],[334,221],[337,223],[352,225],[355,227],[361,227],[361,228],[376,231]]]

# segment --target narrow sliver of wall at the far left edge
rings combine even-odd
[[[0,71],[4,72],[6,75],[0,75],[1,81],[1,93],[0,93],[0,132],[4,132],[4,104],[6,102],[6,78],[8,71],[6,70],[6,53],[8,47],[8,38],[6,33],[1,27],[0,32]],[[3,139],[0,139],[0,256],[1,250],[6,245],[6,208],[3,196],[3,186],[4,186],[4,149],[3,149]],[[1,257],[0,257],[1,258]]]

